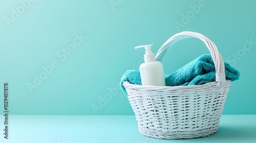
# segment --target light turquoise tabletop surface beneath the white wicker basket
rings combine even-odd
[[[178,140],[140,134],[135,115],[10,115],[8,122],[9,139],[4,139],[1,117],[1,143],[256,142],[256,115],[222,115],[215,134]]]

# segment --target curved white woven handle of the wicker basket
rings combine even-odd
[[[190,31],[184,31],[181,33],[177,33],[170,37],[158,50],[156,55],[156,61],[161,61],[165,52],[167,49],[172,46],[174,43],[176,43],[179,40],[195,37],[200,40],[202,40],[205,45],[208,47],[208,50],[210,51],[212,60],[214,60],[214,65],[216,69],[216,81],[218,82],[217,86],[222,87],[225,85],[226,76],[225,76],[225,65],[223,58],[218,51],[216,45],[214,42],[212,42],[210,39],[205,37],[204,35],[196,32],[190,32]]]

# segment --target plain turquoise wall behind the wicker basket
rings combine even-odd
[[[215,42],[225,62],[241,71],[223,114],[256,114],[256,1],[0,1],[0,83],[9,83],[10,114],[134,114],[119,88],[181,31]],[[208,54],[190,38],[167,51],[166,75]],[[4,96],[4,95],[3,95]],[[4,98],[0,98],[0,112]]]

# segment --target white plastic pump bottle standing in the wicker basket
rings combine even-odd
[[[151,45],[139,45],[135,49],[144,47],[146,54],[144,54],[144,63],[140,65],[140,77],[142,85],[165,86],[163,65],[156,61],[155,54],[151,51]]]

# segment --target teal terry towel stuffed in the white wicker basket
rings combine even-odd
[[[228,63],[224,62],[224,64],[226,79],[231,81],[238,80],[240,77],[239,71],[231,67]],[[175,71],[175,73],[169,76],[165,75],[164,78],[166,86],[202,85],[213,82],[216,80],[214,61],[212,60],[211,55],[202,55],[181,67]],[[125,94],[127,94],[122,85],[124,81],[128,81],[131,84],[141,85],[140,71],[127,70],[122,76],[120,86]]]

